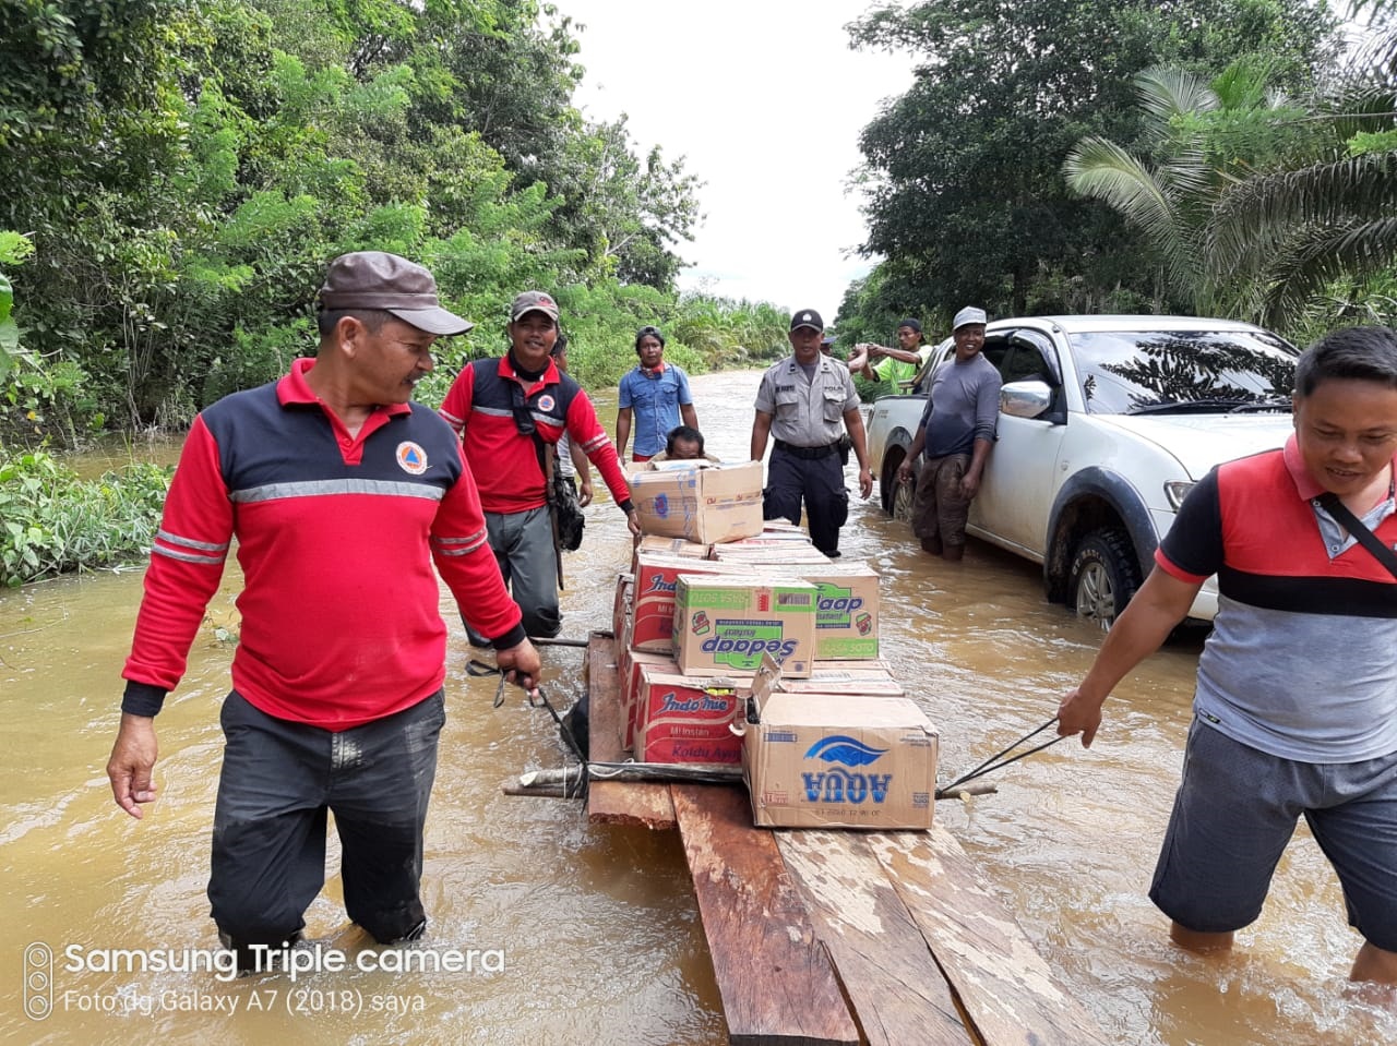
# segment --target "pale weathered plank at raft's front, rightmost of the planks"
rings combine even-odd
[[[868,842],[986,1046],[1106,1046],[950,832],[879,832]]]

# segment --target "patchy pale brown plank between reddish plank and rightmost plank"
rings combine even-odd
[[[774,835],[870,1046],[977,1042],[922,931],[863,834]]]

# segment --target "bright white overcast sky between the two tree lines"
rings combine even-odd
[[[854,0],[556,0],[587,77],[573,102],[594,120],[626,113],[641,155],[707,184],[705,218],[680,256],[685,289],[817,309],[833,323],[869,270],[861,194],[847,191],[858,135],[911,84],[911,63],[852,52]]]

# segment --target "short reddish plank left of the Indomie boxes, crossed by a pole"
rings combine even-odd
[[[592,633],[587,645],[588,754],[598,763],[619,763],[620,687],[616,679],[616,640]],[[594,781],[587,788],[587,816],[601,824],[645,828],[675,827],[669,786],[654,782]]]

